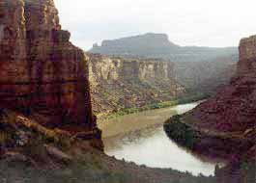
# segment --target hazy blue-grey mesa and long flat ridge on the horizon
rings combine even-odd
[[[236,47],[180,46],[171,42],[165,34],[148,33],[123,39],[103,40],[101,46],[95,44],[89,52],[126,58],[160,58],[172,62],[198,62],[237,55],[238,49]]]

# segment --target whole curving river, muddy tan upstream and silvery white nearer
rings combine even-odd
[[[223,166],[223,160],[193,154],[172,142],[162,127],[166,119],[183,114],[198,104],[195,102],[100,121],[105,153],[151,168],[213,175],[215,165]]]

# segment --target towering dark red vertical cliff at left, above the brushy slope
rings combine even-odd
[[[88,65],[61,30],[53,0],[1,0],[0,103],[45,125],[95,126]]]

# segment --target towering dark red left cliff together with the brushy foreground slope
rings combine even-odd
[[[0,181],[213,182],[103,153],[89,61],[70,37],[52,0],[0,1]]]

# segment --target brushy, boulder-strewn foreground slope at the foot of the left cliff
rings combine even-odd
[[[116,160],[89,141],[60,129],[47,129],[31,118],[8,112],[0,116],[0,180],[51,183],[213,183],[213,176],[193,176],[172,169],[152,169]],[[0,181],[0,182],[1,182]]]

